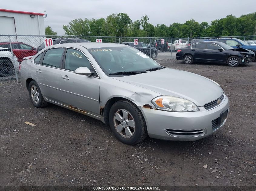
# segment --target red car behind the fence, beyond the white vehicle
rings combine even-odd
[[[18,62],[22,62],[22,59],[27,56],[34,56],[37,53],[36,48],[20,42],[11,42],[12,43],[12,51],[15,56],[18,58]],[[9,48],[9,42],[0,42],[0,47]]]

